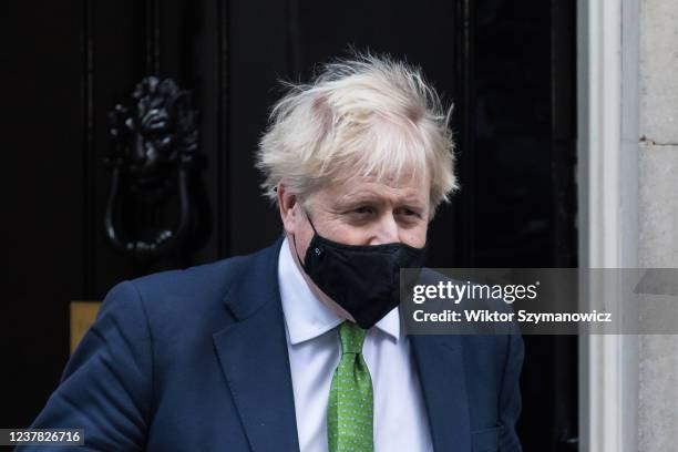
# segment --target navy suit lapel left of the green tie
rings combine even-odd
[[[255,452],[298,451],[295,400],[277,278],[281,240],[254,257],[225,299],[236,321],[214,345]]]

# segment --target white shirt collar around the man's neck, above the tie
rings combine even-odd
[[[278,285],[291,345],[317,338],[345,320],[320,301],[308,287],[291,255],[287,237],[282,240],[278,257]],[[398,341],[399,309],[393,308],[374,326]]]

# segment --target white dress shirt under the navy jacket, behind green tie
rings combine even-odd
[[[336,327],[343,321],[310,290],[288,240],[278,259],[278,280],[301,452],[325,452],[327,401],[341,355]],[[410,342],[400,312],[370,328],[362,346],[374,394],[374,451],[432,451],[429,422]]]

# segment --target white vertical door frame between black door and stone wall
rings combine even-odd
[[[639,0],[577,0],[582,268],[638,266]],[[579,337],[581,451],[637,450],[636,336]]]

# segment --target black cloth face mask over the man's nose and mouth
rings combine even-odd
[[[400,304],[400,269],[420,268],[425,247],[402,243],[345,245],[321,237],[308,214],[314,238],[304,261],[304,271],[328,297],[368,329]]]

